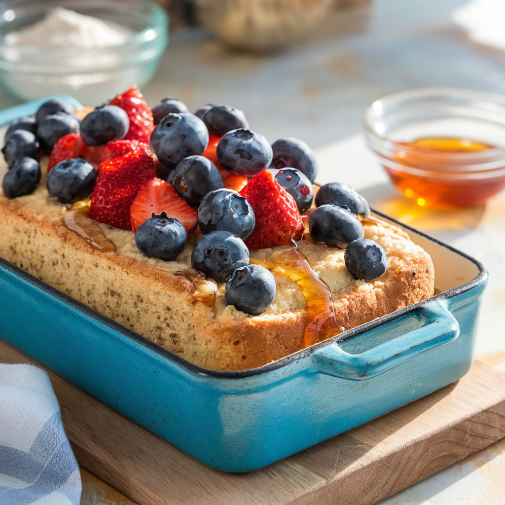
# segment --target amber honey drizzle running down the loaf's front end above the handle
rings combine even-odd
[[[305,329],[305,347],[345,331],[337,323],[330,288],[312,270],[307,257],[296,247],[276,251],[265,260],[250,260],[250,263],[286,275],[300,287],[307,302],[310,321]]]

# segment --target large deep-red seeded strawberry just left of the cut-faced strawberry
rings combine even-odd
[[[131,204],[140,186],[156,176],[155,163],[145,153],[127,153],[100,167],[91,197],[91,218],[131,230]]]

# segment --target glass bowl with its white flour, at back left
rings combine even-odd
[[[167,43],[165,11],[146,0],[0,2],[0,84],[22,100],[103,102],[148,82]]]

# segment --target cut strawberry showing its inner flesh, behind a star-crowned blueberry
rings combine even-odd
[[[196,211],[182,199],[168,182],[155,177],[142,185],[130,209],[131,227],[136,230],[153,212],[178,219],[189,233],[196,228]]]

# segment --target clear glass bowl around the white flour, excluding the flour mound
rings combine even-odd
[[[64,7],[129,28],[120,46],[100,49],[7,45],[4,36]],[[65,93],[96,105],[142,86],[155,73],[168,43],[165,11],[145,0],[5,0],[0,3],[0,84],[22,100]]]

